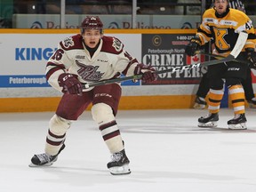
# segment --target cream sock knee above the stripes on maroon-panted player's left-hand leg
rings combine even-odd
[[[55,114],[49,122],[49,129],[56,135],[63,135],[67,132],[70,125],[70,121]]]

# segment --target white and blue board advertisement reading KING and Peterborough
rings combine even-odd
[[[47,60],[60,41],[73,35],[75,34],[0,34],[0,88],[49,87],[44,74]],[[115,36],[124,43],[127,52],[131,52],[138,60],[141,59],[140,34]],[[136,46],[134,42],[137,42]],[[139,85],[132,82],[124,84]]]

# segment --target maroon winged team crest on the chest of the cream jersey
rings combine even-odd
[[[76,60],[76,65],[80,67],[77,70],[77,74],[81,76],[84,81],[99,81],[104,74],[97,71],[99,66],[84,65],[78,60]]]

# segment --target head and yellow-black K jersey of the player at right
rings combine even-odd
[[[228,2],[228,0],[216,2]],[[218,8],[214,6],[204,12],[203,22],[196,33],[201,45],[213,38],[216,53],[228,55],[233,50],[239,33],[246,31],[249,36],[243,51],[246,48],[254,49],[256,39],[252,20],[244,12],[236,9],[227,8],[224,12],[223,4],[220,3]]]

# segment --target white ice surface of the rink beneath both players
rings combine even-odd
[[[256,109],[247,131],[197,127],[207,110],[120,110],[117,124],[130,158],[130,175],[113,176],[110,154],[89,111],[68,130],[66,148],[52,167],[30,168],[44,152],[53,112],[0,114],[1,192],[255,192]]]

